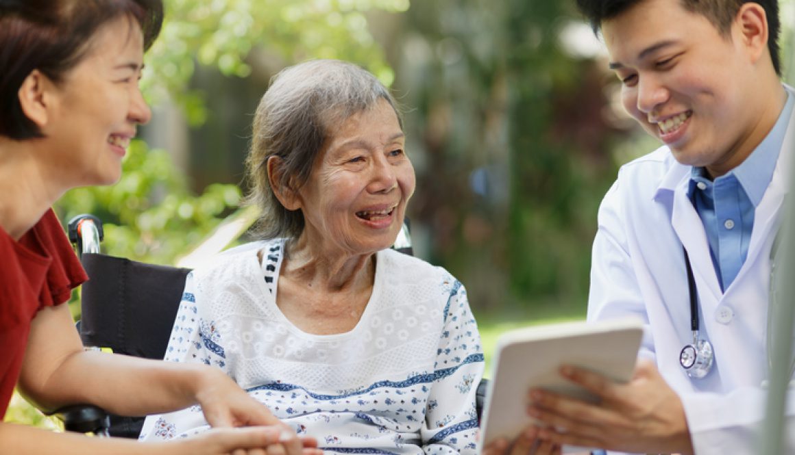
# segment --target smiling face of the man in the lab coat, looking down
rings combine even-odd
[[[626,111],[679,162],[707,167],[713,177],[761,141],[741,29],[735,19],[721,34],[679,0],[645,0],[602,24]]]

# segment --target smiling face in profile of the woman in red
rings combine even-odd
[[[114,183],[136,126],[149,121],[138,79],[143,35],[131,17],[100,28],[87,55],[53,90],[44,128],[48,159],[65,186]]]

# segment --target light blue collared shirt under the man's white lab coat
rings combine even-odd
[[[723,291],[735,280],[748,256],[754,210],[773,179],[795,104],[793,98],[787,91],[787,101],[773,129],[738,167],[715,181],[708,178],[706,169],[692,168],[688,195],[704,224]]]

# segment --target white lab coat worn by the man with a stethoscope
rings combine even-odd
[[[793,93],[790,91],[790,96]],[[789,137],[795,134],[795,115]],[[681,396],[696,453],[758,453],[766,392],[767,299],[770,250],[781,218],[793,151],[778,164],[754,215],[748,256],[725,293],[720,290],[704,226],[687,196],[690,167],[667,147],[624,165],[599,208],[593,246],[588,319],[637,314],[646,322],[642,357],[657,362]],[[692,341],[688,249],[700,300],[701,336],[712,342],[715,363],[691,380],[679,353]],[[790,389],[786,453],[795,453],[795,391]]]

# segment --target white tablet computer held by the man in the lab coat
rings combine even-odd
[[[483,409],[482,447],[497,438],[513,441],[533,422],[527,415],[530,388],[597,401],[560,376],[563,364],[588,368],[619,382],[630,380],[642,337],[643,324],[636,318],[567,322],[502,334]],[[564,453],[582,450],[564,447]]]

